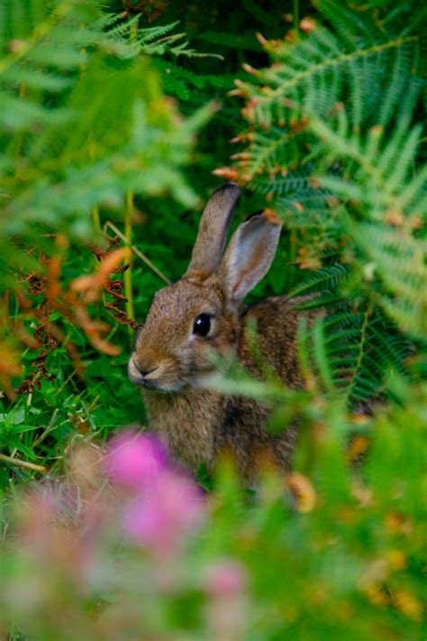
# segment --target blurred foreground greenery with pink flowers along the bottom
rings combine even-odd
[[[266,470],[250,502],[228,462],[202,495],[152,435],[74,448],[67,482],[5,511],[2,633],[57,638],[65,618],[64,639],[419,639],[425,389],[397,388],[411,404],[359,426],[359,473],[345,407],[295,397],[309,465]]]

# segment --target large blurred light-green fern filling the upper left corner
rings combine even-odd
[[[101,14],[95,0],[29,0],[25,23],[19,3],[6,4],[0,29],[4,268],[35,269],[12,239],[49,253],[41,224],[87,238],[94,207],[118,209],[129,190],[150,197],[168,190],[194,205],[180,168],[211,111],[178,117],[139,55],[144,48],[169,48],[168,40],[159,41],[176,24],[141,30],[135,49],[137,22]],[[89,103],[87,96],[93,96]]]

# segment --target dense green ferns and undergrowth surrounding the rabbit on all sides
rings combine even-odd
[[[2,6],[0,638],[425,637],[425,14]],[[254,298],[328,310],[300,327],[306,389],[218,381],[264,398],[273,430],[301,420],[294,472],[256,499],[228,462],[202,499],[166,462],[144,475],[138,436],[115,475],[100,449],[145,426],[134,331],[224,179],[238,219],[284,222]]]

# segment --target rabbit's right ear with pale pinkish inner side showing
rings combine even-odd
[[[239,225],[218,271],[220,284],[230,301],[241,302],[267,274],[280,230],[280,221],[265,212],[257,212]]]

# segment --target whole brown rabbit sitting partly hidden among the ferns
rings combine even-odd
[[[263,212],[250,216],[223,254],[239,195],[233,183],[213,192],[186,274],[153,299],[129,362],[129,376],[142,386],[150,424],[178,461],[192,470],[205,462],[212,472],[219,454],[232,453],[243,481],[250,484],[262,461],[289,469],[296,430],[271,435],[267,407],[205,389],[204,381],[213,373],[208,353],[233,353],[247,371],[260,377],[245,330],[255,321],[259,350],[268,365],[286,385],[302,387],[303,380],[292,303],[275,297],[254,307],[243,305],[273,261],[280,224]]]

